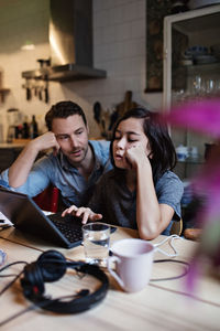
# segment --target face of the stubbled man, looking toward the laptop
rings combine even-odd
[[[54,118],[54,132],[63,153],[73,166],[79,166],[88,151],[88,127],[78,114],[67,118]]]

